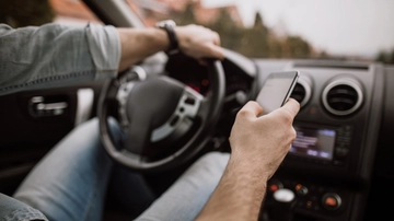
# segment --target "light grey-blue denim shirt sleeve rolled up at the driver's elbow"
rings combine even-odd
[[[114,78],[120,40],[114,26],[0,24],[0,95]]]

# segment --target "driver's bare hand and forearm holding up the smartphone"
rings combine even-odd
[[[292,123],[299,109],[293,98],[264,116],[256,102],[240,109],[229,138],[229,164],[197,221],[258,219],[267,181],[296,139]]]

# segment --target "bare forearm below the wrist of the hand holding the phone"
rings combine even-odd
[[[258,165],[250,159],[231,156],[217,189],[196,220],[257,220],[268,179]]]

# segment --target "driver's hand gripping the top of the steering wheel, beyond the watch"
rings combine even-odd
[[[200,61],[204,58],[217,58],[220,60],[224,58],[217,32],[195,24],[177,26],[175,32],[179,40],[179,49],[185,55]]]

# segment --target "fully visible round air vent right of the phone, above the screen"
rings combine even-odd
[[[354,79],[340,79],[329,83],[323,91],[324,107],[334,115],[346,116],[355,113],[362,104],[360,84]]]

